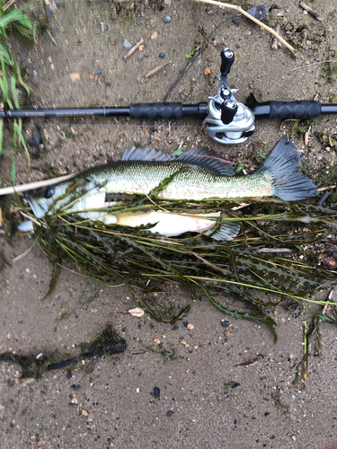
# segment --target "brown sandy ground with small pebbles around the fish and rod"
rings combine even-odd
[[[186,65],[185,55],[230,15],[228,10],[191,0],[46,3],[55,42],[46,31],[41,32],[37,47],[13,41],[13,51],[30,73],[31,107],[162,101]],[[272,3],[266,1],[269,7]],[[322,61],[335,55],[336,4],[333,0],[309,3],[319,9],[324,22],[314,21],[293,0],[279,2],[279,9],[272,10],[268,19],[274,28],[279,23],[281,33],[290,31],[288,40],[298,49],[297,57],[284,48],[272,51],[270,36],[247,20],[241,19],[239,26],[227,22],[209,40],[169,101],[181,101],[184,96],[183,101],[195,103],[214,94],[219,53],[225,47],[235,50],[230,84],[240,88],[239,100],[244,101],[250,92],[259,101],[313,99],[317,92],[322,102],[331,100],[335,84],[327,81],[329,74]],[[251,6],[253,2],[244,7]],[[277,15],[280,12],[283,16]],[[165,24],[165,15],[172,21]],[[157,36],[151,39],[155,31]],[[144,49],[125,62],[124,39],[135,44],[140,38]],[[160,52],[165,53],[163,60],[158,57]],[[145,81],[149,70],[166,61],[172,64],[165,72]],[[204,75],[207,67],[211,73]],[[70,74],[78,74],[79,79],[72,82]],[[332,185],[335,179],[336,154],[317,136],[336,124],[333,116],[316,119],[310,146],[304,145],[303,136],[295,136],[304,154],[304,170],[323,185]],[[40,154],[30,148],[31,169],[20,152],[18,182],[118,159],[135,141],[145,145],[151,127],[128,119],[27,120],[24,132],[28,138],[36,132],[36,125],[44,147]],[[268,153],[280,136],[290,133],[290,126],[258,122],[245,145],[230,147],[209,141],[198,120],[155,123],[152,136],[153,145],[167,152],[179,145],[208,145],[249,168],[261,163],[256,159],[260,148]],[[6,133],[8,137],[9,129]],[[7,154],[0,167],[1,186],[10,185],[10,167]],[[10,200],[0,201],[0,206],[7,207]],[[174,327],[158,325],[146,315],[124,314],[135,306],[125,287],[102,286],[66,270],[52,294],[42,300],[48,291],[49,261],[33,247],[12,262],[30,247],[32,239],[10,233],[6,228],[0,235],[0,257],[10,262],[0,271],[1,353],[35,357],[41,352],[59,352],[73,357],[80,343],[93,340],[107,324],[126,340],[127,349],[119,356],[102,357],[90,373],[64,369],[32,382],[19,379],[17,365],[0,365],[1,448],[316,449],[337,445],[337,334],[333,326],[321,326],[320,357],[314,357],[314,348],[310,348],[307,388],[301,392],[293,381],[303,354],[304,321],[311,316],[306,309],[294,313],[278,307],[272,312],[279,324],[279,341],[274,345],[268,329],[228,319],[205,297],[192,302],[180,291],[173,291],[165,301],[172,302],[177,311],[178,304],[192,303],[186,319],[193,324],[192,330],[182,321]],[[322,298],[327,295],[322,292]],[[230,327],[223,327],[223,320]],[[240,365],[255,357],[255,363]],[[160,389],[160,397],[155,388]]]

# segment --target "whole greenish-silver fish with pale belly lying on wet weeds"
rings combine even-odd
[[[192,148],[179,156],[172,156],[147,146],[133,146],[124,152],[120,161],[93,167],[34,195],[26,194],[24,199],[38,218],[62,211],[106,225],[152,225],[149,232],[165,236],[190,231],[205,232],[217,240],[228,240],[235,237],[240,227],[236,222],[225,219],[214,230],[219,213],[176,214],[148,206],[123,212],[122,200],[113,203],[120,204],[118,213],[92,209],[110,206],[111,203],[106,201],[107,195],[117,198],[135,194],[148,196],[155,189],[157,198],[178,201],[262,197],[295,201],[315,198],[315,184],[297,172],[299,164],[300,154],[287,137],[275,145],[255,171],[245,176],[235,175],[234,164],[206,148]],[[163,188],[158,189],[159,185]]]

